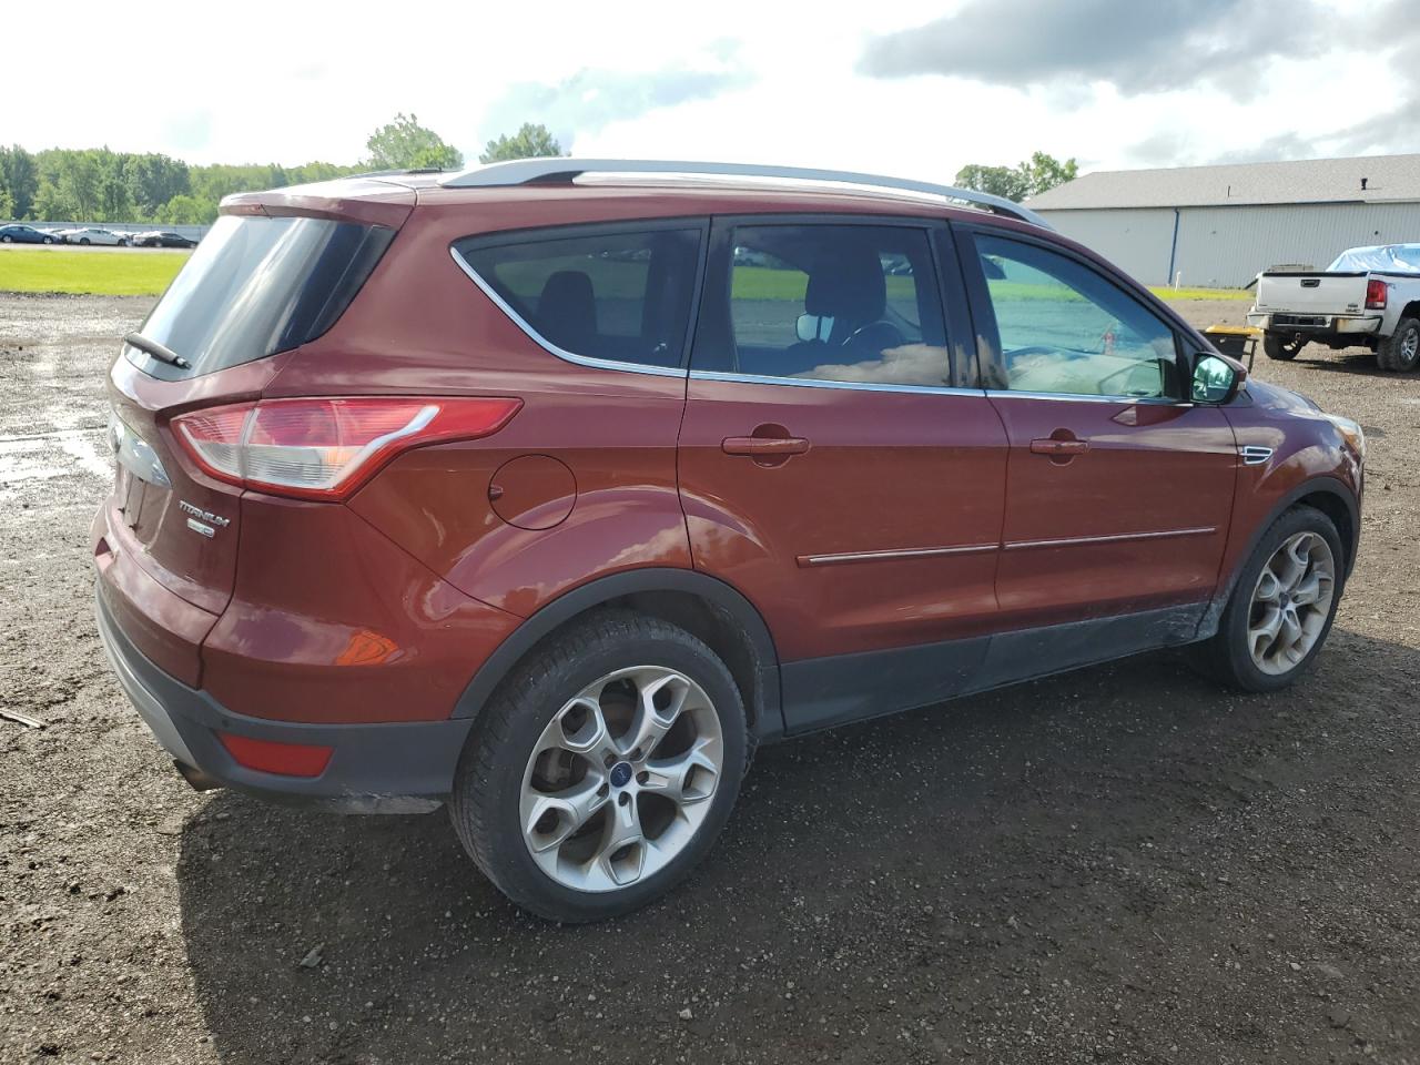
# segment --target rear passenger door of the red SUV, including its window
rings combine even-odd
[[[770,623],[791,731],[954,694],[984,655],[1005,439],[963,386],[949,240],[920,220],[714,223],[682,501],[696,567]]]

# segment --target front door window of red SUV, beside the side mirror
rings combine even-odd
[[[1012,392],[1181,398],[1173,329],[1112,281],[1035,244],[976,237]]]

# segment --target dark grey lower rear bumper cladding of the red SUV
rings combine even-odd
[[[288,724],[234,714],[142,655],[97,598],[98,632],[119,684],[158,743],[179,763],[260,798],[346,814],[410,814],[437,808],[473,721]],[[318,777],[287,777],[240,765],[222,733],[332,747]]]

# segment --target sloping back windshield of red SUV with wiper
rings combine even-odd
[[[139,329],[192,366],[131,345],[124,354],[173,381],[297,348],[335,324],[393,236],[354,222],[224,214]]]

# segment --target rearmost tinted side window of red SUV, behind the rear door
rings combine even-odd
[[[454,250],[528,332],[582,358],[680,366],[700,229],[470,237]]]

